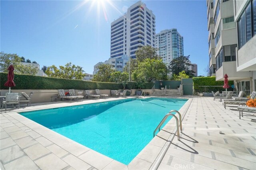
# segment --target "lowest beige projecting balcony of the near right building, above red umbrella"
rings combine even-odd
[[[227,73],[228,80],[239,80],[252,77],[252,72],[236,71],[236,61],[223,62],[222,67],[216,71],[216,81],[223,81],[224,75]]]

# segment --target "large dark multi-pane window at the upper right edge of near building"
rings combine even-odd
[[[252,8],[253,7],[253,8]],[[251,0],[238,19],[238,48],[256,34],[256,0]]]

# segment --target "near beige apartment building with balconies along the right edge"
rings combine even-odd
[[[255,1],[207,0],[210,75],[222,81],[227,73],[246,94],[256,86]]]

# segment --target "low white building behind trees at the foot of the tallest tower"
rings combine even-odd
[[[94,65],[94,71],[93,75],[97,74],[99,69],[98,66],[102,64],[110,64],[112,65],[112,69],[115,69],[116,71],[123,71],[124,66],[127,65],[129,62],[129,57],[127,55],[122,55],[120,57],[116,58],[109,58],[105,62],[98,62],[96,65]]]

